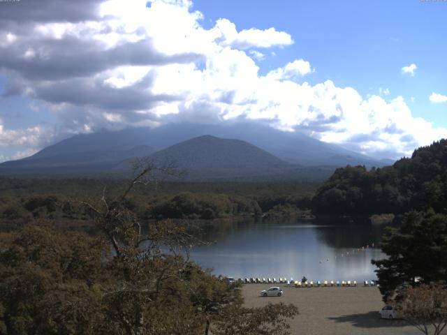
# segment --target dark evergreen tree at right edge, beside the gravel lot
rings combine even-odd
[[[417,283],[447,281],[447,216],[434,211],[406,214],[400,228],[388,228],[381,248],[388,256],[372,260],[383,300]]]

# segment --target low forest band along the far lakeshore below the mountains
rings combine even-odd
[[[0,178],[0,221],[29,223],[49,218],[59,222],[88,220],[82,200],[110,198],[122,191],[115,179]],[[257,216],[279,205],[309,208],[317,184],[166,183],[136,186],[126,207],[140,218]]]

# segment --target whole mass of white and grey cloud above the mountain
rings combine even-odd
[[[256,50],[294,43],[274,27],[237,30],[222,18],[207,29],[189,0],[35,2],[0,3],[3,98],[38,102],[60,120],[59,133],[251,120],[373,156],[447,137],[413,117],[400,96],[364,98],[331,80],[303,82],[314,70],[304,59],[263,75]],[[413,65],[402,73],[413,74]],[[0,145],[37,148],[57,137],[50,128],[2,126],[2,140],[17,140]]]

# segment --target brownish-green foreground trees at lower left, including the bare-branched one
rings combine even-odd
[[[296,306],[246,308],[240,283],[189,260],[204,243],[189,221],[140,223],[127,197],[144,172],[78,204],[95,236],[48,219],[0,234],[0,334],[289,334]],[[57,199],[24,202],[41,207],[53,213]]]

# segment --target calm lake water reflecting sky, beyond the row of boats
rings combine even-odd
[[[383,228],[365,219],[243,221],[208,225],[191,258],[214,274],[358,282],[376,278],[372,259],[383,258]]]

